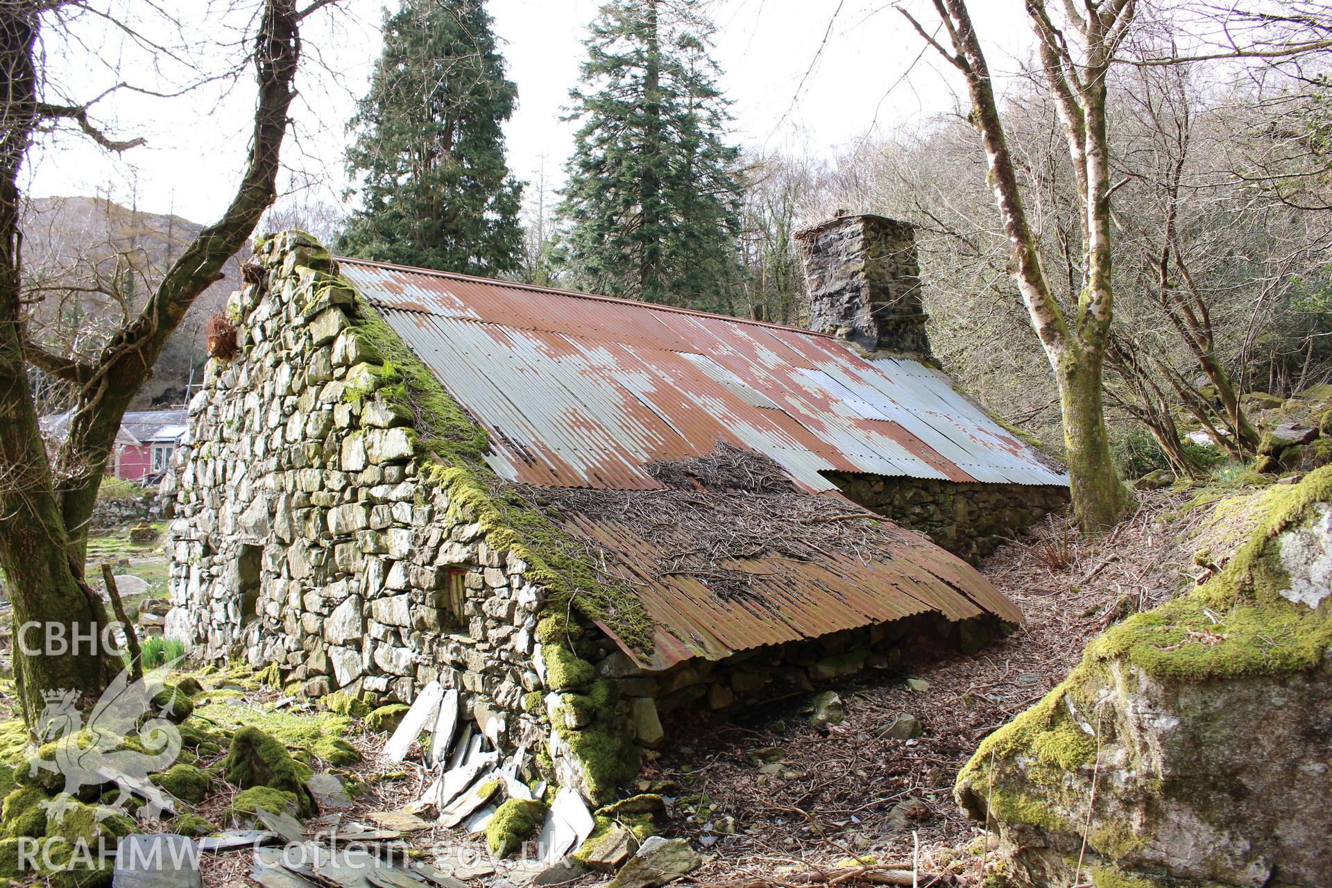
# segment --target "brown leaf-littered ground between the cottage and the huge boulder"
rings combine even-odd
[[[647,775],[681,787],[670,828],[710,845],[694,880],[809,884],[810,871],[852,856],[910,868],[918,840],[922,871],[978,885],[982,829],[952,799],[955,775],[987,734],[1063,680],[1091,636],[1192,584],[1192,541],[1209,514],[1187,509],[1196,493],[1144,493],[1138,514],[1102,539],[1050,523],[1004,546],[980,570],[1024,626],[974,656],[918,654],[908,671],[834,686],[846,720],[826,735],[801,718],[805,696],[675,735]],[[914,691],[906,678],[930,687]],[[904,712],[924,724],[919,739],[875,739]],[[763,747],[785,751],[783,774],[758,772],[750,755]],[[735,835],[714,832],[727,817]]]

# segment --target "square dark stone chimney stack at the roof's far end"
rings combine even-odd
[[[864,351],[934,359],[910,222],[838,210],[798,232],[795,244],[810,292],[809,329]]]

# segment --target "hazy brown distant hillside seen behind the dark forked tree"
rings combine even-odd
[[[32,309],[35,334],[53,350],[96,354],[107,332],[124,318],[121,301],[137,313],[161,276],[204,228],[178,216],[145,213],[101,197],[44,197],[24,206],[24,277],[40,286]],[[249,248],[242,250],[242,257]],[[221,281],[194,302],[166,342],[153,377],[131,409],[180,403],[190,369],[194,381],[205,359],[202,326],[240,285],[232,258]],[[88,290],[100,290],[89,293]],[[47,405],[57,406],[57,405]]]

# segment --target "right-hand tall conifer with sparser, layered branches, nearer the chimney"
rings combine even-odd
[[[734,313],[739,152],[698,0],[610,0],[590,27],[559,216],[578,286]]]

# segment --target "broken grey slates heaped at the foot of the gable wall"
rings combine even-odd
[[[352,805],[341,781],[317,774],[308,788],[322,816],[301,823],[290,813],[257,811],[249,829],[202,839],[157,833],[120,841],[113,888],[202,888],[201,867],[209,855],[250,849],[249,877],[261,888],[522,888],[570,881],[585,875],[567,857],[593,833],[595,823],[582,797],[563,787],[546,808],[534,843],[517,860],[478,853],[474,847],[434,847],[433,863],[410,853],[412,832],[446,827],[466,835],[485,831],[505,799],[539,800],[545,781],[518,779],[529,771],[525,748],[503,756],[498,748],[502,724],[494,718],[478,726],[465,718],[458,692],[428,684],[384,747],[386,763],[408,760],[420,751],[434,776],[420,800],[402,811],[366,815],[373,823],[346,820],[338,812]],[[428,734],[428,739],[417,743]],[[306,833],[312,835],[306,835]],[[699,865],[682,839],[651,836],[629,857],[611,883],[615,888],[655,888]],[[480,881],[478,881],[480,880]]]

